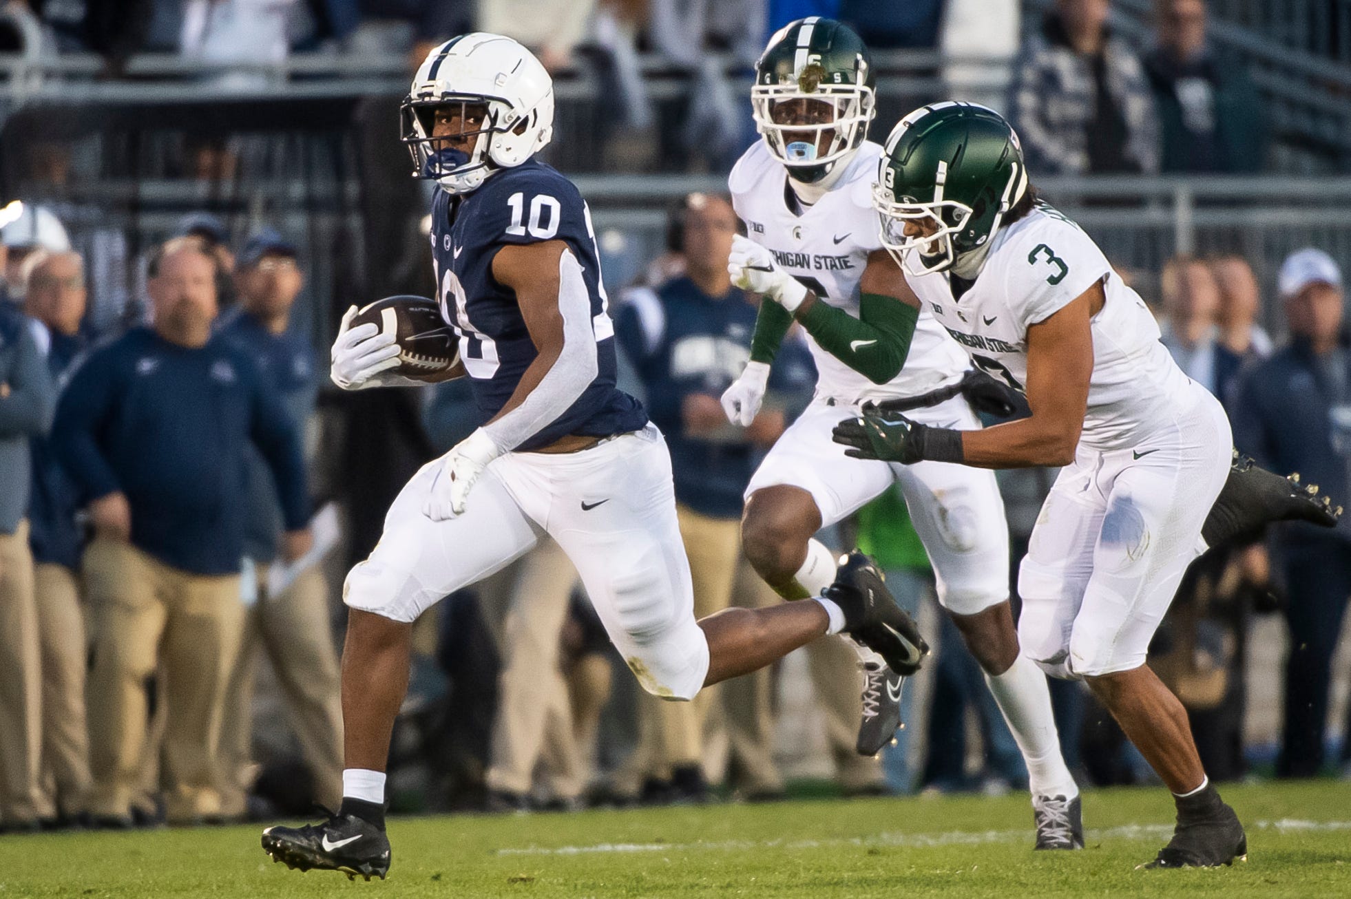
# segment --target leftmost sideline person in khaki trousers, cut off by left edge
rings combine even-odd
[[[42,651],[28,549],[30,440],[47,432],[55,387],[41,325],[0,305],[0,829],[36,830],[43,815]]]

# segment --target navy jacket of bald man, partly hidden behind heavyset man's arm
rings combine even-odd
[[[72,366],[85,351],[85,342],[53,332],[47,350],[47,369],[59,393],[70,378]],[[53,400],[55,405],[55,400]],[[32,560],[80,567],[82,544],[76,512],[80,509],[80,490],[51,448],[46,435],[32,437],[32,494],[28,498],[28,544]]]

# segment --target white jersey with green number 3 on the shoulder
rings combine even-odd
[[[1028,327],[1102,281],[1106,302],[1092,323],[1093,374],[1079,437],[1088,447],[1135,445],[1162,424],[1161,416],[1171,418],[1194,401],[1144,301],[1092,238],[1051,207],[1038,205],[994,235],[985,267],[961,300],[952,298],[946,273],[907,273],[907,281],[971,362],[1017,390],[1027,382]]]

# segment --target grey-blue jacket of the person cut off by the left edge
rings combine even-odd
[[[14,533],[28,512],[28,441],[51,427],[57,389],[32,319],[0,294],[0,533]]]

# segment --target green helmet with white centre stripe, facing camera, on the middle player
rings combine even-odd
[[[820,181],[858,150],[877,113],[867,47],[834,19],[808,16],[784,26],[755,63],[751,111],[789,174]]]

